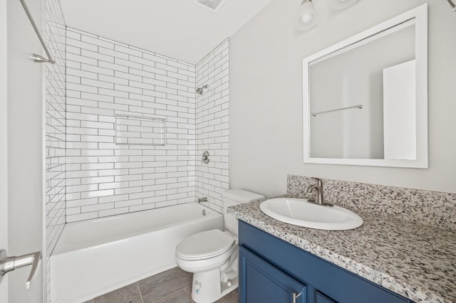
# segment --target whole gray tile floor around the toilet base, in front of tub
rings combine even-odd
[[[175,267],[85,303],[192,303],[191,290],[192,274]],[[237,303],[238,297],[234,289],[217,303]]]

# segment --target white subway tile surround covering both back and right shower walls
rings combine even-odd
[[[192,202],[199,193],[221,211],[228,41],[195,66],[74,28],[66,35],[66,222]],[[197,75],[210,89],[198,102]],[[198,143],[197,131],[212,139]],[[199,176],[198,144],[214,155]]]

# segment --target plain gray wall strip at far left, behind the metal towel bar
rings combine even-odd
[[[33,18],[41,23],[41,1],[28,1]],[[8,219],[9,255],[42,250],[43,193],[43,69],[31,53],[41,44],[16,0],[8,1]],[[30,267],[9,273],[9,302],[42,302],[38,269],[30,289],[25,282]]]

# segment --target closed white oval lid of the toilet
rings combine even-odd
[[[182,259],[195,260],[215,257],[227,252],[234,245],[234,239],[213,229],[190,235],[176,246],[176,255]]]

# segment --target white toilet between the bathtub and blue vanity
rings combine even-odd
[[[225,231],[213,229],[190,235],[177,244],[176,262],[193,273],[192,299],[212,303],[238,286],[239,250],[237,218],[227,213],[229,206],[258,201],[258,193],[231,189],[222,193]]]

